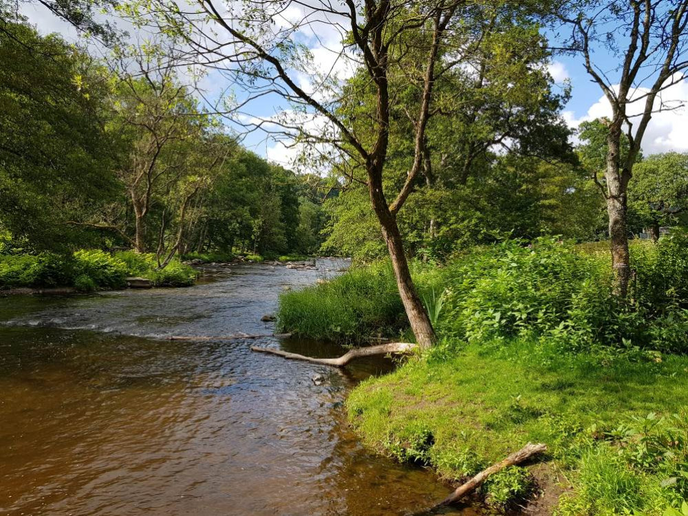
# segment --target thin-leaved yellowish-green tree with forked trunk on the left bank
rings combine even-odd
[[[180,82],[175,56],[162,59],[139,47],[133,63],[120,66],[109,122],[109,131],[120,134],[122,148],[127,149],[118,175],[133,211],[133,236],[127,239],[137,252],[147,250],[146,222],[156,193],[161,188],[170,191],[184,176],[189,164],[184,144],[200,139],[209,123],[192,89]],[[115,222],[104,224],[108,225],[118,227]],[[119,233],[127,234],[122,228]]]

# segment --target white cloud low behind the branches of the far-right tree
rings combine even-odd
[[[614,88],[618,89],[619,85]],[[632,92],[632,98],[638,98],[637,102],[628,105],[628,114],[632,117],[632,122],[638,120],[634,115],[641,114],[645,107],[645,99],[641,98],[647,93],[647,89],[638,88]],[[655,103],[655,109],[660,108],[660,103],[669,107],[680,106],[688,99],[688,80],[665,89]],[[569,127],[578,127],[581,122],[595,120],[603,116],[612,116],[612,107],[605,96],[601,96],[592,106],[588,108],[585,115],[577,118],[572,111],[564,111],[562,114]],[[677,107],[676,109],[659,111],[652,115],[647,126],[647,131],[643,136],[643,152],[645,154],[663,153],[669,151],[688,151],[688,108]],[[577,143],[577,139],[574,139]]]

